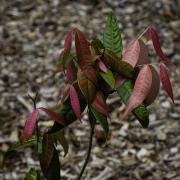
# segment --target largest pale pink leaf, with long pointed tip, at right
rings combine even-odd
[[[120,120],[124,119],[134,108],[139,106],[151,90],[152,73],[148,65],[140,70],[136,79],[134,89],[128,100],[128,105]]]

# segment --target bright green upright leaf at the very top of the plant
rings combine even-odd
[[[103,44],[106,49],[114,52],[118,58],[122,57],[122,38],[117,18],[111,13],[108,16],[103,33]]]

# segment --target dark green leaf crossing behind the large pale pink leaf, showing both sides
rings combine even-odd
[[[117,94],[121,97],[124,104],[128,103],[128,99],[131,96],[133,90],[132,81],[125,81],[119,88],[117,88]],[[133,114],[139,120],[143,128],[147,128],[149,125],[149,112],[144,104],[141,104],[133,110]]]

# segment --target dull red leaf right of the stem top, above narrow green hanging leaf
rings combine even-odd
[[[104,102],[104,99],[102,98],[102,95],[99,91],[96,93],[96,96],[92,103],[92,107],[95,108],[98,112],[100,112],[104,116],[106,117],[109,116],[106,103]]]

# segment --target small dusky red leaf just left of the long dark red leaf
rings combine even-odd
[[[72,60],[67,67],[66,76],[69,84],[72,84],[77,79],[77,69]]]

